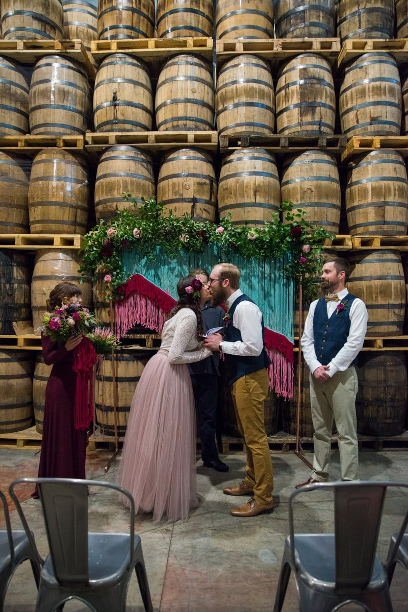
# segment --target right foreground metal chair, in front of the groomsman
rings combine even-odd
[[[291,571],[302,612],[339,610],[359,603],[368,612],[392,610],[387,571],[376,553],[385,494],[395,482],[330,482],[306,485],[289,498],[289,533],[275,598],[280,612]],[[334,494],[334,534],[294,533],[293,501],[313,490]],[[402,529],[404,525],[402,525]]]

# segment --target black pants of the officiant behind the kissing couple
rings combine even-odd
[[[218,376],[213,374],[192,374],[193,392],[196,402],[198,431],[201,441],[202,461],[218,460],[215,444],[215,430],[218,401]]]

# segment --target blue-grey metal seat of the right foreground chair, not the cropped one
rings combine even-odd
[[[317,591],[335,592],[334,534],[297,534],[294,543],[295,565],[299,571],[299,578],[306,584],[313,583],[313,589]],[[286,537],[285,545],[290,548],[289,536]],[[387,573],[376,554],[368,588],[382,589],[385,583],[387,583]]]

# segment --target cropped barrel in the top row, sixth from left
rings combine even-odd
[[[276,38],[332,38],[335,0],[277,0]]]

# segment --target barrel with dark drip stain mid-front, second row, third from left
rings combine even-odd
[[[103,60],[95,78],[94,122],[97,132],[152,129],[152,84],[143,61],[124,53]]]

